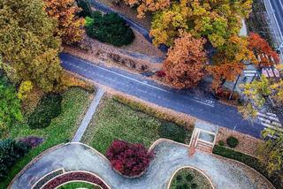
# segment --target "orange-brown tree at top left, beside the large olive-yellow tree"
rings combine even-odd
[[[84,34],[85,20],[77,17],[80,8],[74,0],[44,0],[45,11],[57,20],[55,35],[65,44],[80,42]]]

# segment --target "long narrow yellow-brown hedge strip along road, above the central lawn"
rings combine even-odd
[[[117,102],[126,104],[127,106],[131,107],[133,110],[142,111],[146,114],[149,114],[150,116],[157,117],[158,119],[172,122],[177,125],[182,125],[191,131],[193,131],[194,129],[192,122],[186,121],[180,117],[173,117],[160,110],[153,109],[150,106],[143,104],[142,102],[136,102],[121,95],[113,95],[113,99]]]

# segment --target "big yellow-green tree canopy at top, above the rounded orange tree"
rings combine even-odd
[[[206,37],[213,47],[221,47],[239,34],[241,19],[251,11],[251,0],[180,0],[155,13],[150,35],[155,45],[171,46],[181,31]]]

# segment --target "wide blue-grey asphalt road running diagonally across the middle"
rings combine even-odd
[[[213,98],[201,98],[186,93],[186,91],[176,91],[145,79],[140,74],[91,64],[69,54],[61,54],[60,58],[65,70],[78,73],[99,84],[128,95],[134,95],[159,106],[186,113],[211,124],[234,129],[257,138],[264,129],[263,125],[252,125],[243,120],[236,108],[217,102]]]

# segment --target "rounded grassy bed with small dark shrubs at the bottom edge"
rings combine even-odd
[[[211,189],[210,181],[198,170],[183,168],[179,170],[170,184],[170,189]]]

